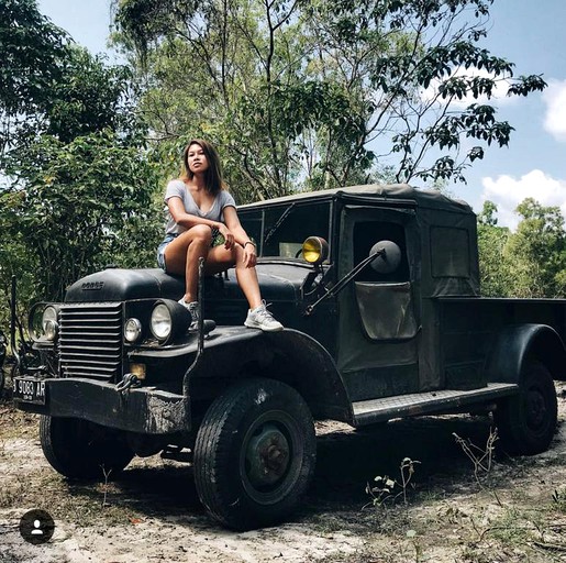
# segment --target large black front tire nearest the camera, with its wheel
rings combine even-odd
[[[243,380],[213,401],[199,428],[197,492],[229,528],[270,526],[297,507],[315,462],[314,423],[302,397],[273,379]]]

